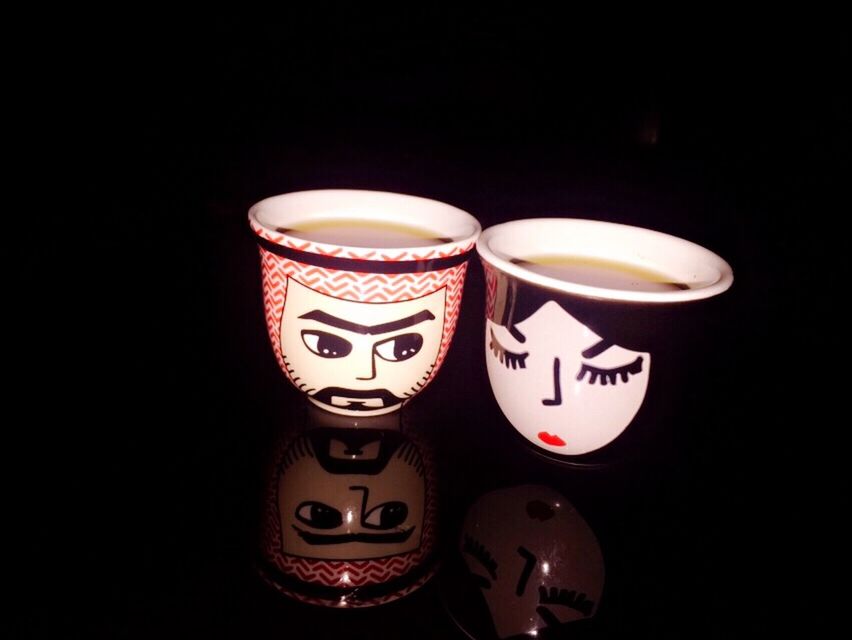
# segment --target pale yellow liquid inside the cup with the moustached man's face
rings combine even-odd
[[[326,219],[299,222],[277,230],[302,240],[368,249],[429,247],[452,241],[428,229],[381,220]]]

